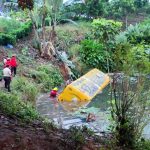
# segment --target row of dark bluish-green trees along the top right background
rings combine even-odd
[[[123,18],[128,14],[138,13],[140,10],[148,13],[149,8],[148,0],[86,0],[84,3],[75,2],[64,5],[62,14],[63,17],[66,16],[73,20],[92,20],[98,17]]]

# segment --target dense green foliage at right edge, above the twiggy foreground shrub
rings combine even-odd
[[[116,69],[130,72],[149,72],[149,22],[130,25],[115,37],[114,61]],[[125,67],[125,68],[124,68]],[[132,70],[132,71],[131,71]]]

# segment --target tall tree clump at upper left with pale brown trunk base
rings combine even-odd
[[[42,0],[40,5],[38,2],[32,2],[30,0],[20,0],[18,1],[18,4],[23,10],[25,8],[29,9],[30,18],[32,20],[33,29],[35,32],[35,38],[39,45],[41,56],[51,59],[54,55],[56,55],[54,47],[56,37],[55,27],[63,1]],[[46,19],[49,21],[49,28],[47,30],[49,36],[46,35]],[[39,29],[41,29],[41,32],[39,32]]]

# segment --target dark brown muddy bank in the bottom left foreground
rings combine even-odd
[[[0,113],[0,149],[1,150],[70,150],[80,147],[81,150],[97,150],[103,146],[104,140],[95,142],[87,138],[83,145],[68,139],[66,130],[43,127],[39,121],[25,124]],[[100,142],[101,141],[101,142]],[[107,148],[106,148],[107,149]]]

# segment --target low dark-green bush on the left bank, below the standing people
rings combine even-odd
[[[14,115],[23,121],[33,121],[39,118],[36,110],[25,104],[17,95],[0,92],[0,110],[7,115]]]

